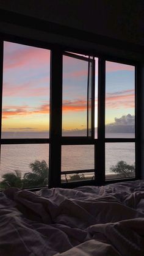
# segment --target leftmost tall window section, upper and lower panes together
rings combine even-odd
[[[3,187],[48,185],[49,81],[48,49],[4,42],[0,174]],[[39,139],[37,144],[35,139]],[[43,139],[47,143],[43,144]]]

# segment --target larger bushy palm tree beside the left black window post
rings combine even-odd
[[[31,163],[30,168],[32,172],[24,174],[23,188],[34,188],[36,186],[48,185],[48,165],[45,160]]]

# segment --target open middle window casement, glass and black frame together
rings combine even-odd
[[[68,113],[69,111],[69,113]],[[68,136],[94,137],[95,133],[95,58],[63,54],[62,134],[70,127],[77,133]]]

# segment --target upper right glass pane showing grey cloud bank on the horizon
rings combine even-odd
[[[106,61],[106,137],[135,137],[135,67]]]

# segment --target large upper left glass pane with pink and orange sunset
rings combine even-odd
[[[49,137],[50,51],[4,42],[2,138]]]

